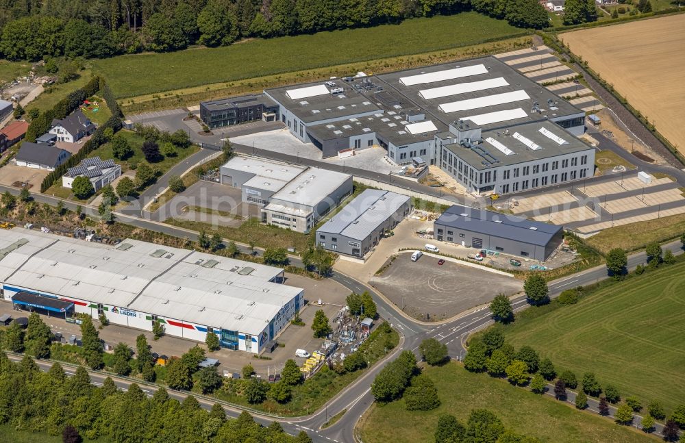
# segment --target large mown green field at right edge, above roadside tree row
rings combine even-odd
[[[580,379],[595,372],[622,397],[671,411],[685,398],[685,262],[597,290],[577,305],[503,328],[516,348],[532,346]]]

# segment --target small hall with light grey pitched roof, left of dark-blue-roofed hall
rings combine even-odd
[[[316,244],[338,254],[364,257],[411,210],[412,199],[406,195],[364,190],[316,229]]]

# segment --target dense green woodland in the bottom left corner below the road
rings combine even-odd
[[[42,372],[32,357],[14,363],[3,352],[0,425],[36,432],[36,441],[47,432],[64,442],[312,442],[304,432],[284,433],[276,422],[262,427],[247,412],[227,420],[221,405],[206,411],[193,396],[179,403],[159,388],[148,397],[136,383],[121,392],[110,378],[97,388],[81,366],[70,378],[58,363]]]

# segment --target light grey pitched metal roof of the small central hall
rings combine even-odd
[[[409,199],[410,197],[395,192],[364,190],[316,231],[364,240]]]

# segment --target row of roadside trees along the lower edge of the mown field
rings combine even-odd
[[[641,427],[646,433],[654,431],[656,420],[667,418],[662,434],[664,440],[678,440],[678,429],[685,429],[685,403],[678,405],[667,416],[664,406],[659,401],[643,405],[636,396],[621,398],[616,386],[601,384],[594,372],[585,372],[579,379],[571,370],[558,371],[549,358],[540,358],[530,346],[521,346],[518,351],[505,341],[499,328],[487,329],[481,336],[473,338],[464,357],[464,368],[471,372],[487,372],[491,377],[506,378],[513,385],[527,386],[536,394],[544,394],[547,384],[553,384],[553,394],[561,401],[566,401],[567,388],[580,388],[575,396],[575,407],[586,409],[588,396],[599,400],[599,414],[610,414],[609,404],[616,405],[614,421],[619,425],[632,425],[635,413],[645,410]],[[623,402],[621,402],[623,401]]]

